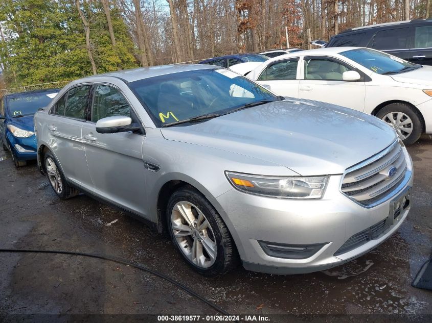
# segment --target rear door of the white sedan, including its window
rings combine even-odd
[[[267,85],[278,95],[299,97],[299,57],[268,64],[258,76],[259,84]]]

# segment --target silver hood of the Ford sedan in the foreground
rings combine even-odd
[[[304,176],[343,173],[396,139],[374,116],[309,100],[276,101],[161,131],[168,140],[260,158]]]

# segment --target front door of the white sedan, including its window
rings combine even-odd
[[[305,57],[304,79],[300,80],[299,96],[331,103],[358,111],[365,108],[365,82],[346,82],[342,74],[354,70],[349,65],[327,57]]]

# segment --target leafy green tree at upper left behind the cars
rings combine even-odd
[[[87,1],[83,9],[90,23],[98,72],[137,66],[133,42],[118,10],[111,9],[115,49],[101,3]],[[0,61],[5,66],[8,86],[73,80],[92,74],[85,29],[73,0],[3,0],[0,28],[4,35]]]

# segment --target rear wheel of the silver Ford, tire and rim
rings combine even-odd
[[[47,152],[43,155],[43,163],[48,182],[58,197],[62,200],[67,200],[67,198],[79,194],[77,189],[67,184],[59,163],[51,152]]]

